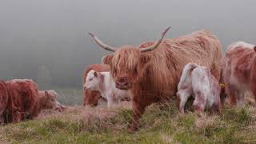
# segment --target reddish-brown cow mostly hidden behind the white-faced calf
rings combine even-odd
[[[90,70],[95,70],[97,72],[110,71],[110,66],[103,65],[103,64],[93,64],[88,66],[83,74],[82,86],[84,86],[84,84],[86,83],[86,76]],[[101,98],[100,92],[96,90],[87,90],[84,87],[82,89],[83,89],[83,106],[86,106],[86,105],[97,106],[98,99]]]

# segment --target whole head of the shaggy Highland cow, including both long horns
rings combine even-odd
[[[110,65],[110,72],[114,78],[115,86],[121,90],[129,90],[134,83],[138,82],[146,63],[150,62],[150,56],[144,53],[157,48],[169,29],[170,27],[162,33],[161,38],[152,46],[142,49],[139,49],[138,46],[120,46],[116,50],[114,47],[104,44],[94,34],[90,33],[90,36],[98,46],[114,52],[114,54],[105,56],[102,62],[107,62]]]

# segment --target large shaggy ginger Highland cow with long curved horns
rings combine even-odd
[[[169,29],[162,33],[157,42],[120,46],[117,50],[90,33],[99,46],[114,52],[105,59],[110,59],[110,73],[116,87],[132,91],[133,119],[130,131],[138,128],[138,118],[146,106],[169,100],[176,94],[182,69],[188,62],[206,66],[215,78],[220,78],[222,48],[217,37],[202,30],[162,41]]]

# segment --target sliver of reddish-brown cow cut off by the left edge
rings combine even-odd
[[[4,114],[8,102],[8,90],[6,82],[0,81],[0,123],[5,122]]]

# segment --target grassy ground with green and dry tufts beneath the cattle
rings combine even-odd
[[[255,106],[225,107],[219,116],[179,115],[174,104],[150,106],[140,129],[127,131],[130,105],[117,109],[74,106],[63,113],[1,126],[0,141],[13,143],[256,143]]]

